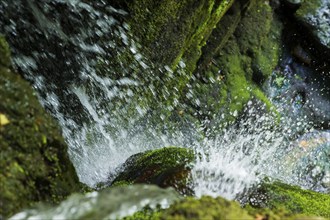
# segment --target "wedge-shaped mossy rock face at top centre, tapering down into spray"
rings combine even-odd
[[[155,72],[165,65],[171,69],[159,73],[161,81],[154,85],[159,95],[157,100],[148,100],[152,103],[149,106],[161,103],[160,108],[167,109],[178,99],[196,68],[202,47],[233,2],[138,0],[127,3],[130,14],[127,22],[139,39],[143,54],[153,63]],[[178,68],[180,61],[185,63],[183,71]],[[146,77],[140,79],[143,78]],[[167,111],[164,115],[170,117],[171,113]]]

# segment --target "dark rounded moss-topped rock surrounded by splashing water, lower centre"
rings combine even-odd
[[[188,178],[194,160],[192,150],[179,147],[138,153],[126,160],[111,185],[148,183],[171,186],[181,194],[192,194]]]

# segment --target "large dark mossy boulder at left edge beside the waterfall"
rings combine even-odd
[[[33,89],[10,69],[8,44],[0,37],[0,216],[38,201],[58,202],[78,190],[58,125]]]

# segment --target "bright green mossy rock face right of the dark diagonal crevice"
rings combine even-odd
[[[220,121],[220,125],[212,124],[212,129],[235,122],[251,100],[260,105],[257,108],[264,108],[275,120],[278,118],[261,86],[279,60],[280,21],[268,2],[242,1],[240,5],[235,3],[229,12],[214,30],[219,36],[212,34],[205,47],[218,45],[216,52],[205,51],[194,72],[197,80],[194,78],[190,83],[193,97],[183,98],[192,113],[196,110],[200,113],[201,121]],[[230,37],[223,31],[226,28],[233,33]]]

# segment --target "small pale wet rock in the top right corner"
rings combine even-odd
[[[330,49],[330,2],[328,0],[303,1],[295,16],[321,45]]]

